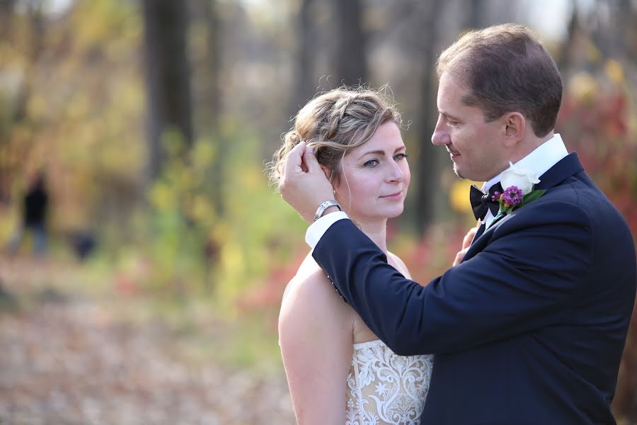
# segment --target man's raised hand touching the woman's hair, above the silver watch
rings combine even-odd
[[[285,157],[279,191],[285,202],[309,223],[314,221],[314,214],[323,201],[334,199],[332,185],[305,142],[300,142]],[[326,212],[331,210],[335,208]]]

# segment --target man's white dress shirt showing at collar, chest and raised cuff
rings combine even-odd
[[[546,142],[536,147],[533,152],[528,154],[526,157],[520,159],[520,161],[516,162],[514,165],[520,166],[529,171],[534,171],[538,176],[549,171],[551,167],[558,162],[561,161],[564,157],[568,155],[568,151],[566,150],[566,146],[564,146],[564,142],[562,141],[562,137],[558,134],[554,135],[551,139],[546,140]],[[502,174],[498,174],[498,176],[493,177],[486,183],[482,185],[482,191],[487,193],[487,191],[493,186],[495,183],[499,183]],[[330,228],[338,220],[343,220],[345,218],[349,218],[347,214],[343,211],[331,212],[330,214],[323,215],[323,217],[316,220],[314,223],[308,227],[307,232],[305,234],[305,242],[314,249],[314,246],[319,243],[323,234],[327,232],[327,229]],[[493,221],[493,214],[491,211],[487,211],[486,217],[484,217],[483,222],[486,222],[486,227],[488,228],[491,222]]]

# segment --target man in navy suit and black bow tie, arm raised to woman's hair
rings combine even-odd
[[[553,133],[562,94],[555,63],[529,30],[503,25],[464,35],[437,71],[432,142],[458,176],[493,192],[512,162],[539,176],[534,189],[545,192],[504,216],[497,194],[493,204],[491,193],[478,196],[483,225],[464,260],[424,287],[389,266],[335,207],[319,208],[308,230],[314,259],[392,350],[435,353],[421,424],[615,424],[635,247]],[[333,199],[304,143],[289,153],[280,191],[310,222]]]

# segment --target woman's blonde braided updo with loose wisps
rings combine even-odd
[[[330,182],[338,184],[345,154],[390,121],[399,127],[402,123],[393,99],[384,92],[344,86],[316,96],[297,113],[294,127],[283,135],[283,145],[268,164],[270,183],[279,186],[285,156],[304,141],[314,149],[319,164],[330,171]]]

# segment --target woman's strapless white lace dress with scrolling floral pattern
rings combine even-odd
[[[346,425],[418,425],[433,356],[398,356],[379,339],[354,344]]]

